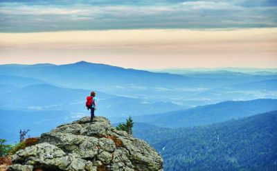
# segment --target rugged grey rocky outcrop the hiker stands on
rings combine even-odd
[[[163,170],[161,155],[148,143],[116,130],[105,117],[89,120],[42,134],[39,144],[12,156],[8,170]]]

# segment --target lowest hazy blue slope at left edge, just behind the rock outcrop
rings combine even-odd
[[[38,137],[57,125],[75,118],[65,111],[16,111],[0,110],[0,139],[8,143],[19,142],[19,129],[30,130],[30,137]]]

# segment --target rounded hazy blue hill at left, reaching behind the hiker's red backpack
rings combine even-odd
[[[9,110],[79,110],[84,109],[89,90],[59,88],[35,84],[2,94],[0,107]],[[98,92],[102,99],[114,96]]]

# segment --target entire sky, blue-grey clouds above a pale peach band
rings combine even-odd
[[[0,63],[277,68],[276,0],[0,1]]]

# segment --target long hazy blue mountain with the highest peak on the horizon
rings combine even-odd
[[[73,88],[96,88],[100,90],[102,86],[122,86],[127,84],[154,85],[172,84],[182,85],[189,78],[177,74],[161,74],[143,70],[125,69],[105,64],[78,63],[61,66],[39,64],[39,65],[2,65],[1,74],[12,74],[21,77],[31,77],[42,79],[51,83]]]

